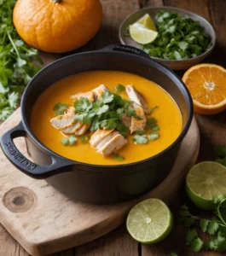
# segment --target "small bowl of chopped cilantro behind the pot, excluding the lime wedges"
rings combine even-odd
[[[129,27],[147,14],[154,20],[158,36],[152,43],[138,44],[130,37]],[[216,44],[216,34],[206,19],[172,7],[151,7],[130,15],[119,28],[119,39],[173,70],[188,69],[203,61]]]

